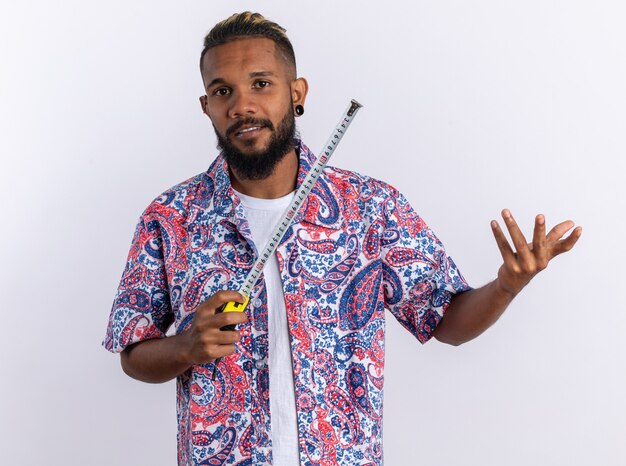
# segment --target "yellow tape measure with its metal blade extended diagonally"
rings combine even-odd
[[[313,189],[313,185],[322,174],[324,167],[330,160],[330,157],[333,155],[333,152],[335,152],[335,149],[339,145],[341,138],[343,138],[343,135],[347,131],[348,127],[350,126],[350,123],[352,123],[352,120],[354,119],[355,115],[357,114],[357,112],[359,111],[361,107],[362,105],[358,103],[356,100],[353,99],[350,101],[350,106],[342,115],[341,120],[335,127],[335,130],[330,135],[330,138],[328,138],[328,141],[326,142],[326,145],[324,146],[324,149],[322,150],[322,155],[318,156],[317,160],[315,160],[315,163],[313,164],[313,166],[307,173],[306,178],[304,179],[304,181],[300,185],[300,188],[296,192],[293,198],[293,201],[291,201],[291,204],[285,211],[285,214],[283,215],[283,217],[280,219],[280,221],[274,228],[274,231],[272,232],[270,239],[268,240],[267,244],[263,248],[263,251],[261,251],[261,253],[259,254],[259,257],[257,258],[256,262],[252,266],[252,269],[250,269],[250,272],[248,272],[248,275],[246,276],[246,280],[244,281],[243,286],[239,289],[239,293],[243,296],[244,302],[243,303],[236,303],[233,301],[228,302],[220,306],[216,310],[216,312],[218,313],[219,312],[243,312],[246,309],[246,306],[250,302],[250,294],[252,292],[252,288],[254,288],[254,285],[256,285],[256,282],[259,280],[259,277],[261,276],[261,273],[263,272],[263,269],[265,268],[265,264],[267,264],[270,257],[272,256],[272,254],[278,247],[280,240],[282,239],[283,235],[285,234],[285,232],[291,225],[291,222],[293,218],[296,216],[296,213],[298,212],[298,210],[300,209],[300,206],[302,206],[305,199],[307,198],[307,196]],[[235,329],[234,325],[226,325],[221,328],[221,330],[234,330],[234,329]],[[218,358],[215,361],[215,368],[213,370],[214,380],[215,380],[215,372],[217,370],[217,365],[219,364],[220,359],[221,358]]]

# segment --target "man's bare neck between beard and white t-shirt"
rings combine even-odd
[[[233,188],[246,196],[260,199],[276,199],[286,196],[296,189],[298,178],[298,155],[296,150],[289,151],[278,162],[274,172],[262,180],[242,179],[239,174],[230,169],[230,183]]]

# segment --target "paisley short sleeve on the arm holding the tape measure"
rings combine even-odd
[[[173,318],[161,228],[144,213],[135,230],[102,344],[119,353],[133,343],[163,338]]]

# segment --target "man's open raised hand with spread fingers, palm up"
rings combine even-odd
[[[548,263],[561,253],[574,247],[582,234],[582,227],[576,227],[569,236],[565,233],[574,227],[567,220],[556,225],[546,235],[546,222],[543,215],[535,217],[535,230],[532,243],[528,243],[517,222],[508,209],[502,211],[515,250],[511,247],[497,221],[491,221],[493,236],[498,243],[504,263],[498,270],[497,284],[505,292],[515,296],[532,278],[548,266]]]

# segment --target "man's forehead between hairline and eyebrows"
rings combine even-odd
[[[209,49],[202,62],[205,83],[234,79],[251,72],[286,72],[284,61],[273,40],[265,37],[242,38]]]

